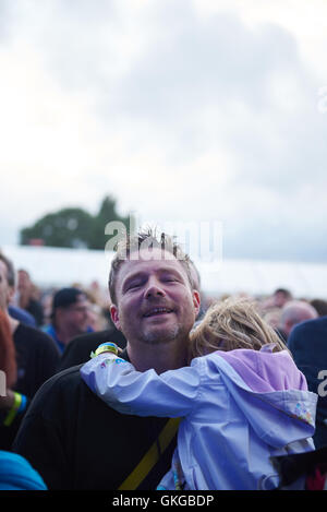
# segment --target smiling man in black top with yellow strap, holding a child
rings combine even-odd
[[[116,328],[128,341],[122,358],[141,371],[185,366],[199,295],[189,257],[173,239],[148,231],[121,241],[109,295]],[[39,390],[15,452],[49,489],[155,489],[170,466],[177,421],[117,413],[92,393],[80,368],[57,373]]]

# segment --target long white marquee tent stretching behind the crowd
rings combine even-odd
[[[2,252],[15,269],[25,269],[40,287],[89,285],[107,287],[112,253],[85,249],[3,246]],[[294,297],[327,298],[327,264],[223,260],[195,261],[202,287],[210,296],[247,293],[270,295],[276,288],[290,289]]]

